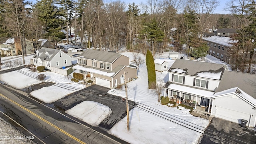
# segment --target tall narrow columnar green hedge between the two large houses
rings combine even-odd
[[[146,65],[148,70],[148,88],[156,89],[156,68],[154,58],[149,50],[146,55]]]

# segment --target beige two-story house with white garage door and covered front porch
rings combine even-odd
[[[107,88],[124,84],[124,73],[126,82],[137,77],[137,67],[130,65],[130,58],[116,52],[85,50],[78,55],[78,64],[72,68]]]

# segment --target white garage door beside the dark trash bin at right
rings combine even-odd
[[[234,110],[230,110],[228,108],[222,108],[220,106],[216,107],[216,117],[222,118],[225,120],[229,120],[231,122],[236,122],[241,124],[241,119],[248,120],[247,125],[250,123],[250,114],[246,114],[244,112],[238,112]]]

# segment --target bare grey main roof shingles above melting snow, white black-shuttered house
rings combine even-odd
[[[220,73],[220,78],[226,68],[224,64],[212,64],[207,62],[199,62],[195,60],[184,60],[176,59],[172,64],[168,72],[175,72],[174,69],[183,70],[182,74],[187,74],[191,76],[197,76],[198,73],[210,72],[210,73]],[[180,72],[177,72],[180,73]],[[214,78],[212,78],[214,79]]]

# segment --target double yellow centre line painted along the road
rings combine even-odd
[[[41,118],[40,116],[38,116],[38,115],[37,115],[37,114],[35,114],[34,112],[32,112],[32,111],[28,110],[28,109],[27,109],[27,108],[25,108],[24,106],[22,106],[22,105],[18,104],[17,102],[14,102],[14,101],[13,101],[13,100],[11,100],[10,98],[7,98],[6,96],[4,96],[4,95],[2,95],[2,94],[0,94],[0,96],[2,96],[3,98],[6,98],[7,100],[9,100],[10,102],[12,102],[12,103],[16,104],[17,106],[19,106],[20,108],[22,108],[22,109],[26,110],[27,112],[29,112],[29,113],[33,114],[34,116],[36,116],[36,117],[37,117],[37,118],[39,118],[40,120],[42,120],[42,121],[46,122],[47,124],[49,124],[49,125],[53,126],[53,127],[54,127],[54,128],[56,128],[57,130],[59,130],[59,131],[60,131],[60,132],[62,132],[63,134],[66,134],[66,135],[67,135],[67,136],[69,136],[70,138],[73,138],[73,139],[74,139],[74,140],[76,140],[77,142],[80,142],[81,144],[86,144],[85,142],[83,142],[83,141],[79,140],[78,138],[76,138],[76,137],[72,136],[72,135],[71,135],[71,134],[69,134],[68,132],[66,132],[66,131],[62,130],[62,129],[61,129],[61,128],[59,128],[58,126],[55,126],[54,124],[52,124],[52,123],[48,122],[48,121],[47,121],[47,120],[45,120],[44,118]]]

